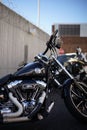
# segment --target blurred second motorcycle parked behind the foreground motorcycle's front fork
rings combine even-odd
[[[87,84],[87,62],[81,60],[76,55],[65,62],[64,66],[66,69],[79,81],[83,81]]]

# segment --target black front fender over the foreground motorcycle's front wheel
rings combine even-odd
[[[67,89],[69,89],[69,86],[73,83],[72,79],[67,79],[64,83],[63,83],[63,91],[62,91],[62,98],[65,98],[66,96],[68,96],[68,92]]]

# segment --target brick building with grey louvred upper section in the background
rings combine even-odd
[[[87,52],[87,24],[54,24],[52,32],[58,29],[58,35],[62,37],[65,53],[75,52],[80,46],[83,52]]]

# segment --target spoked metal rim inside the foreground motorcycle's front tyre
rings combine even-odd
[[[80,85],[84,87],[82,83],[80,83]],[[87,88],[85,88],[85,90],[86,89]],[[76,85],[72,84],[70,86],[70,98],[75,109],[82,116],[87,117],[87,95],[85,95]]]

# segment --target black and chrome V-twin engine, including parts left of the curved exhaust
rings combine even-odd
[[[23,80],[12,81],[7,85],[9,91],[14,98],[18,100],[23,106],[23,115],[29,115],[41,96],[43,90],[46,88],[46,83],[39,80]],[[11,113],[17,111],[17,106],[9,99],[9,95],[5,87],[0,87],[0,113]]]

